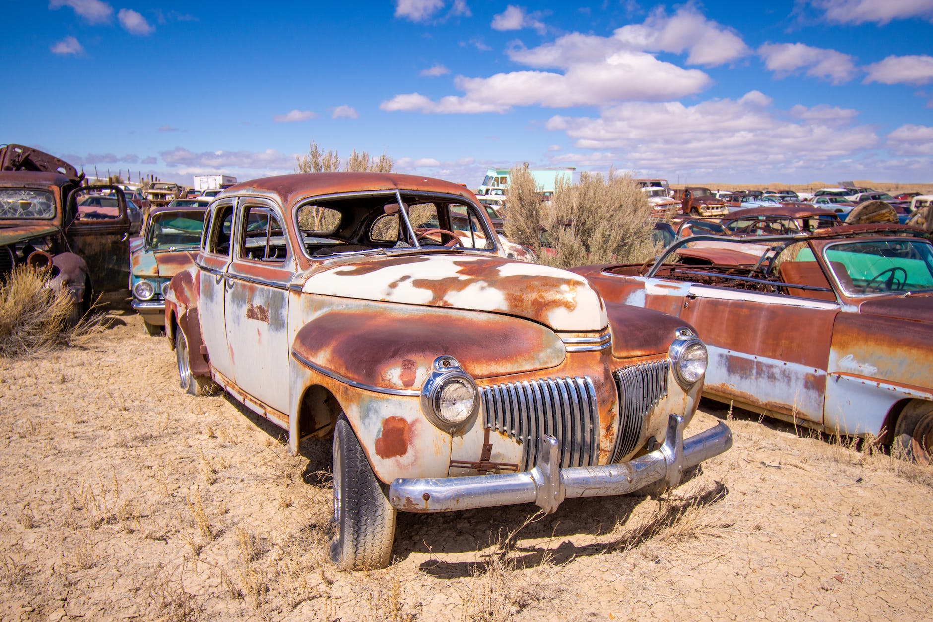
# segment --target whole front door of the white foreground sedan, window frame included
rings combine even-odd
[[[288,285],[295,260],[272,201],[246,197],[238,212],[224,294],[233,381],[260,402],[287,413]]]

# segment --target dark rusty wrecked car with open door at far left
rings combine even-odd
[[[42,151],[0,148],[0,278],[20,264],[48,267],[49,288],[68,291],[78,311],[90,308],[92,292],[126,288],[132,230],[123,191],[83,180]],[[111,205],[78,205],[104,191]]]

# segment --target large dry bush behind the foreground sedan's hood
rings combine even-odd
[[[578,184],[558,179],[550,203],[540,199],[527,169],[515,167],[509,177],[506,235],[534,249],[540,262],[569,268],[644,262],[656,254],[651,205],[631,177],[610,170],[581,173]]]

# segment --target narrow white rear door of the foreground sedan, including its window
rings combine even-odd
[[[234,361],[227,343],[224,290],[227,288],[227,269],[233,247],[235,206],[232,199],[214,206],[204,232],[202,252],[195,261],[200,276],[198,316],[204,346],[207,347],[211,369],[227,378],[233,377]]]

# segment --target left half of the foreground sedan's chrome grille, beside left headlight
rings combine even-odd
[[[507,382],[480,395],[484,425],[522,443],[522,471],[535,466],[541,434],[560,441],[562,467],[596,464],[599,409],[589,377]]]

